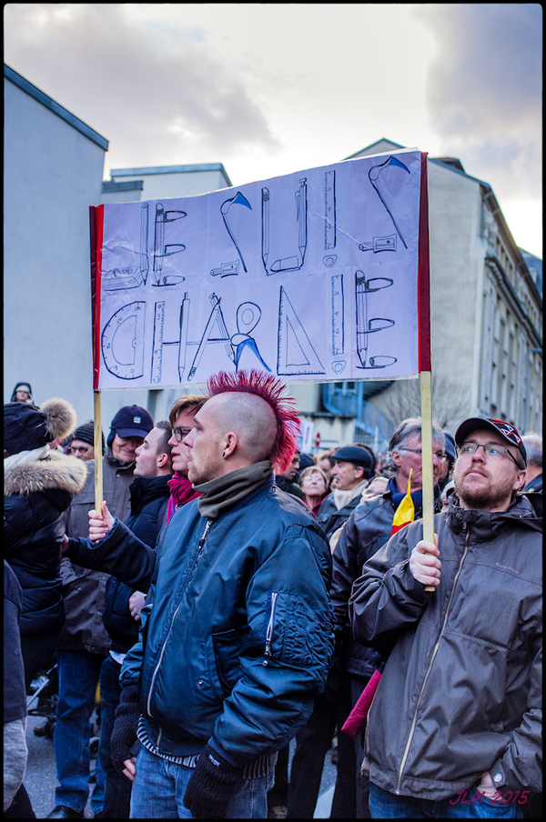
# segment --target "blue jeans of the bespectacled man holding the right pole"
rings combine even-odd
[[[372,819],[522,819],[521,806],[501,802],[469,788],[465,795],[449,799],[399,797],[373,783],[369,787],[369,810]],[[501,791],[502,793],[502,791]],[[508,797],[508,794],[506,794]],[[512,796],[511,796],[512,798]],[[475,800],[475,801],[474,801]],[[517,800],[516,800],[517,803]]]

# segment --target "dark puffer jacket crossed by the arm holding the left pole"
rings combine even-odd
[[[157,535],[165,515],[169,487],[169,476],[137,476],[131,484],[131,515],[126,526],[134,536],[151,548],[156,547]],[[138,638],[140,623],[129,612],[129,598],[136,590],[124,585],[116,576],[110,576],[106,583],[105,612],[103,619],[106,630],[112,637],[111,650],[125,654]],[[146,590],[143,591],[146,593]]]

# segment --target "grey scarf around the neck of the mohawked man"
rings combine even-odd
[[[196,491],[203,495],[197,500],[199,514],[208,519],[217,519],[263,485],[272,471],[273,466],[266,459],[194,486]]]

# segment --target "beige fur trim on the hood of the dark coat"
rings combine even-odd
[[[32,494],[59,488],[69,494],[81,491],[87,476],[84,460],[51,451],[45,459],[7,468],[4,474],[4,496]]]

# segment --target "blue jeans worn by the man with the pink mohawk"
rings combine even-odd
[[[141,748],[136,757],[136,777],[131,793],[131,819],[194,819],[184,805],[193,768],[175,765]],[[275,768],[267,777],[246,779],[227,806],[226,819],[267,819],[268,790]]]

